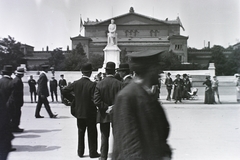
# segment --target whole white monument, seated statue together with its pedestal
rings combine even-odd
[[[108,37],[107,37],[107,46],[103,49],[104,51],[104,62],[103,67],[99,69],[99,72],[105,72],[105,67],[107,62],[111,61],[116,64],[116,68],[120,64],[120,49],[117,46],[117,26],[114,24],[114,20],[111,20],[111,23],[108,26]]]

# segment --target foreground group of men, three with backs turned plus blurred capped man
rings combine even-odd
[[[81,67],[82,78],[63,88],[63,95],[73,95],[71,113],[77,118],[79,157],[84,157],[84,135],[88,131],[89,156],[108,158],[110,128],[113,128],[113,160],[170,159],[167,144],[169,124],[161,104],[152,92],[158,84],[160,51],[129,55],[129,64],[106,64],[106,77],[92,82],[92,65]],[[134,71],[134,78],[130,75]],[[118,72],[122,80],[115,77]],[[101,154],[97,152],[97,128],[100,124]]]

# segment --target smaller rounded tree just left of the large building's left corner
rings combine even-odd
[[[65,56],[61,48],[56,48],[51,52],[51,57],[49,60],[49,65],[54,67],[55,71],[62,71],[65,69]]]

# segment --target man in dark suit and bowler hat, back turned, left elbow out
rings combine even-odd
[[[82,65],[81,72],[82,78],[74,81],[67,87],[62,89],[63,95],[73,94],[75,95],[75,103],[73,104],[74,116],[77,118],[78,127],[78,156],[84,155],[84,135],[87,129],[88,132],[88,146],[90,158],[96,158],[100,155],[97,153],[97,127],[96,127],[96,115],[97,108],[93,102],[93,95],[96,83],[90,80],[92,74],[92,65],[86,63]]]

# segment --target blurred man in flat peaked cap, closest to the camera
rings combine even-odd
[[[152,86],[159,78],[160,51],[132,53],[132,83],[121,90],[113,107],[113,160],[169,160],[169,123]]]

